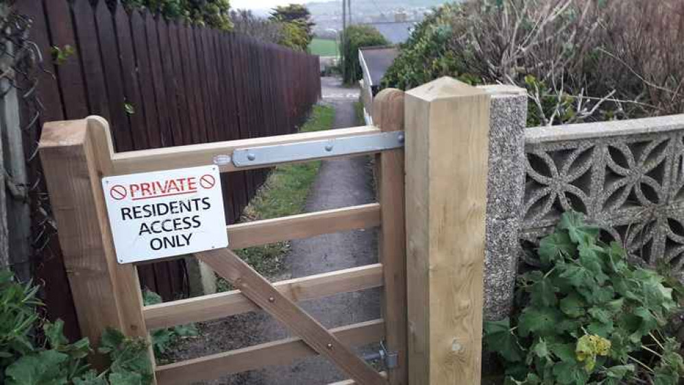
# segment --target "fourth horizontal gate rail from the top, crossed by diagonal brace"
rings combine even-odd
[[[376,319],[337,327],[330,332],[347,346],[360,346],[382,340],[384,323],[382,319]],[[315,356],[316,354],[301,338],[286,338],[193,360],[162,365],[157,367],[156,375],[160,384],[191,384],[195,381],[210,380],[228,373],[239,373],[271,365],[286,365],[298,358]]]

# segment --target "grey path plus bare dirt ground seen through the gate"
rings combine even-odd
[[[354,101],[358,89],[341,86],[339,79],[324,77],[323,103],[335,108],[334,128],[358,125]],[[313,212],[354,206],[375,201],[372,171],[366,157],[323,162],[311,188],[306,211]],[[356,230],[293,240],[286,256],[286,268],[277,280],[303,277],[377,262],[376,231]],[[303,308],[326,327],[336,327],[376,319],[380,316],[380,293],[365,290],[305,301]],[[173,361],[187,360],[278,340],[289,333],[263,312],[250,312],[217,321],[199,323],[200,335],[184,340],[169,356]],[[367,353],[376,347],[367,347]],[[269,367],[201,384],[327,384],[345,379],[332,364],[321,358],[298,360],[288,367]]]

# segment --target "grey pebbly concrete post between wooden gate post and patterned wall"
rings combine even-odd
[[[527,94],[515,86],[481,88],[491,94],[483,316],[496,321],[511,311],[520,255]]]

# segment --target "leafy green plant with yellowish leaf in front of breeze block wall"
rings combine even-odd
[[[502,358],[507,383],[678,384],[684,362],[665,327],[679,282],[628,262],[575,212],[537,254],[539,268],[515,288],[512,318],[485,323],[485,346]]]

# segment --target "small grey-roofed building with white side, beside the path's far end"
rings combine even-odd
[[[365,47],[358,50],[358,62],[363,72],[363,79],[360,82],[361,100],[367,124],[373,124],[373,97],[380,89],[380,81],[398,55],[397,47]]]

